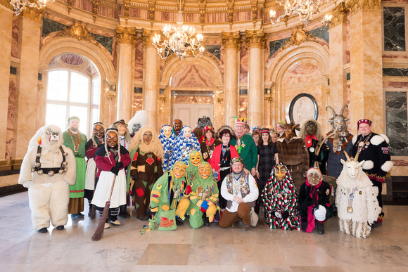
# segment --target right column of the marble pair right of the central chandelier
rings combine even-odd
[[[247,30],[248,44],[248,116],[250,127],[263,126],[264,82],[262,77],[262,52],[265,44],[262,30]]]

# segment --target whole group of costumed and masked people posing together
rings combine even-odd
[[[194,130],[175,119],[172,126],[162,126],[158,135],[135,118],[147,118],[138,112],[129,124],[118,120],[109,129],[96,122],[87,141],[79,132],[79,118],[70,117],[64,133],[56,126],[37,131],[23,160],[19,183],[30,188],[32,221],[40,233],[47,231],[50,219],[53,226],[63,229],[68,214],[82,218],[84,198],[91,218],[110,203],[105,228],[120,226],[118,216],[131,216],[134,207],[136,217],[148,221],[143,233],[155,228],[173,230],[187,217],[192,228],[214,221],[227,227],[243,220],[243,231],[247,231],[250,224],[256,226],[260,207],[270,228],[312,232],[316,227],[323,234],[324,221],[336,209],[340,230],[346,233],[357,229],[353,210],[359,211],[360,223],[361,217],[367,218],[361,213],[371,214],[366,225],[361,225],[365,230],[381,226],[381,184],[393,166],[388,138],[374,134],[368,119],[359,120],[360,135],[352,136],[343,116],[347,107],[340,114],[328,108],[333,113],[329,119],[333,130],[326,138],[318,122],[307,120],[299,136],[294,133],[299,126],[287,122],[279,122],[276,131],[255,127],[256,143],[246,132],[246,118],[234,117],[235,129],[223,125],[217,132],[208,117],[199,119]],[[51,155],[57,158],[51,160],[47,157]],[[336,183],[339,176],[357,179],[343,173],[343,165],[351,164],[353,157],[356,161],[358,157],[357,169],[368,176],[365,187],[374,185],[374,189],[360,190],[358,182]],[[44,194],[48,200],[42,199]],[[364,201],[357,201],[362,197]],[[353,201],[374,205],[352,209]],[[346,216],[340,209],[347,210]]]

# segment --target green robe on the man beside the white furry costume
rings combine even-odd
[[[74,185],[70,186],[70,198],[84,197],[85,171],[87,166],[87,163],[85,162],[85,145],[88,142],[87,136],[79,133],[81,144],[79,145],[77,152],[74,151],[75,137],[68,134],[68,131],[63,132],[63,140],[64,145],[72,150],[75,155],[75,160],[77,161],[77,180]]]

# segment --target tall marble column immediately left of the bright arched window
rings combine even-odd
[[[15,136],[13,159],[22,160],[27,153],[28,142],[38,127],[37,96],[39,93],[39,45],[41,37],[42,12],[35,8],[23,11],[20,20],[18,56],[20,71],[17,75],[15,93]],[[44,110],[44,109],[41,109]]]

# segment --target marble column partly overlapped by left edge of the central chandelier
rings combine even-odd
[[[149,116],[149,127],[159,129],[157,123],[158,115],[158,83],[159,65],[158,52],[153,46],[153,37],[158,32],[143,29],[142,40],[144,45],[144,83],[143,83],[143,109],[147,110]]]

